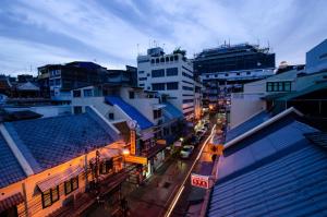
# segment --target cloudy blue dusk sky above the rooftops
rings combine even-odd
[[[150,44],[187,57],[230,41],[268,41],[276,65],[304,63],[327,38],[326,0],[1,0],[0,73],[74,60],[136,65]],[[138,51],[137,51],[137,44]]]

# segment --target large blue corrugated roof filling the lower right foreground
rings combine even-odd
[[[295,120],[269,125],[219,159],[207,216],[327,216],[327,153]],[[231,170],[231,171],[228,171]]]

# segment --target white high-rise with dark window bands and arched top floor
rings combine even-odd
[[[187,121],[199,118],[201,83],[194,81],[193,64],[182,53],[165,55],[160,47],[137,57],[137,85],[167,95]]]

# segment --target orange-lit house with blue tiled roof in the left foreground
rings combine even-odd
[[[1,123],[0,215],[71,216],[98,195],[119,201],[123,148],[119,131],[93,108]]]

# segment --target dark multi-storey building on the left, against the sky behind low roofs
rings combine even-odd
[[[48,64],[38,68],[38,81],[43,96],[52,101],[69,104],[71,91],[100,84],[107,79],[107,69],[94,62],[74,61],[66,64]]]

